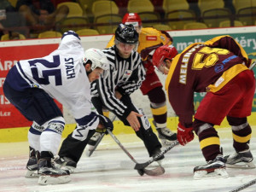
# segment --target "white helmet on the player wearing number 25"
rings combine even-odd
[[[108,59],[107,56],[102,52],[101,49],[90,48],[85,50],[83,62],[91,61],[91,70],[95,70],[96,67],[100,67],[103,70],[108,70]]]

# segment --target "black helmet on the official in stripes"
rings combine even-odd
[[[123,44],[137,44],[138,33],[134,26],[119,24],[115,30],[115,38]]]

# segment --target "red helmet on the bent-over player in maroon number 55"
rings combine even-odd
[[[160,46],[154,51],[152,59],[153,65],[164,73],[164,68],[166,67],[166,63],[164,61],[166,59],[172,61],[177,54],[177,49],[172,44]]]

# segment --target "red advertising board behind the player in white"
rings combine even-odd
[[[3,82],[9,69],[17,61],[43,57],[57,48],[58,44],[0,47],[0,129],[24,127],[32,124],[3,95]],[[62,110],[61,103],[56,103]]]

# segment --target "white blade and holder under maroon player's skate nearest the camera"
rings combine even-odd
[[[194,172],[195,179],[212,179],[212,178],[226,178],[229,174],[225,168],[215,169],[214,172],[197,171]]]

